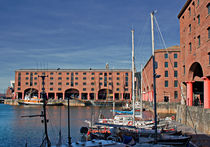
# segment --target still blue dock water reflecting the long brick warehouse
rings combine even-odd
[[[101,112],[105,117],[111,117],[109,107],[71,107],[70,123],[72,141],[80,138],[80,128],[88,126],[85,120],[97,120]],[[41,106],[10,106],[0,104],[0,147],[23,147],[26,142],[29,147],[40,146],[44,134],[42,118],[21,117],[41,114]],[[92,115],[91,115],[92,114]],[[67,143],[67,107],[47,107],[48,134],[52,144],[58,141],[61,128],[62,141]]]

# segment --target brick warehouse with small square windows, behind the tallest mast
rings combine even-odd
[[[180,102],[180,49],[172,46],[155,50],[157,62],[156,79],[157,102]],[[143,101],[153,101],[153,61],[148,60],[142,71]]]

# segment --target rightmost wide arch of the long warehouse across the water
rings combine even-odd
[[[113,100],[113,91],[110,89],[101,89],[98,91],[98,100]]]

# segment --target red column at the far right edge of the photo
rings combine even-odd
[[[204,108],[210,109],[210,79],[203,77],[204,80]]]

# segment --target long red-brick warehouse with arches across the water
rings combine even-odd
[[[15,71],[15,98],[40,98],[41,78],[46,75],[48,98],[82,100],[131,100],[132,74],[124,69],[20,69]]]

